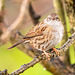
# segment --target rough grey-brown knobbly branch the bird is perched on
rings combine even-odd
[[[58,50],[60,51],[60,55],[62,54],[62,52],[65,52],[74,42],[75,42],[75,32],[69,37],[68,41],[62,47],[58,48]],[[52,57],[57,57],[55,52],[54,53],[50,52],[50,58]],[[16,75],[16,74],[18,75],[20,73],[23,73],[28,68],[33,67],[36,63],[45,59],[46,56],[44,54],[36,56],[30,63],[22,65],[20,69],[10,73],[9,75]]]

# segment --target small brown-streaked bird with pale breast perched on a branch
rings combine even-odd
[[[59,55],[59,51],[54,47],[62,40],[64,27],[56,13],[50,13],[47,18],[34,26],[25,37],[13,44],[8,49],[14,48],[21,43],[30,43],[33,48],[43,51],[46,57],[49,49],[53,49]]]

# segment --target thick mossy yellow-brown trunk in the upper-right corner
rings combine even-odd
[[[75,1],[64,0],[67,16],[69,18],[71,33],[75,32]]]

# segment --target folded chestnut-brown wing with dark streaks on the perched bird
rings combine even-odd
[[[41,22],[40,24],[34,26],[24,37],[24,39],[26,38],[33,38],[36,36],[40,36],[43,35],[43,32],[49,28],[49,25],[45,25],[43,22]]]

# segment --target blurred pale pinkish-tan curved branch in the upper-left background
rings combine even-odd
[[[20,23],[23,20],[24,16],[27,15],[27,9],[28,9],[29,3],[30,3],[30,0],[22,1],[19,16],[17,17],[15,22],[11,24],[10,27],[2,34],[1,40],[6,39],[13,30],[15,30],[18,26],[20,26]]]

